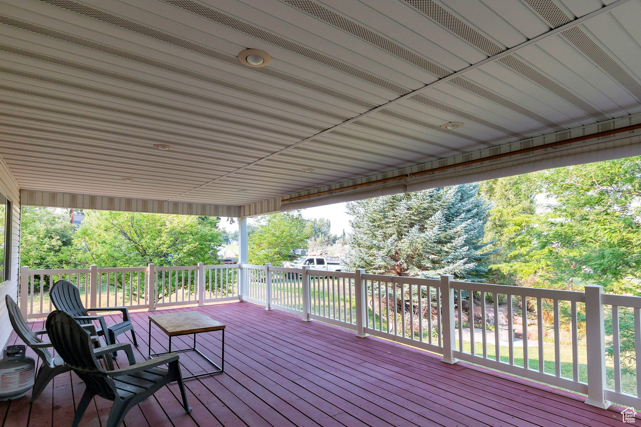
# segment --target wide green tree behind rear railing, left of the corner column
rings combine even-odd
[[[75,261],[101,267],[214,264],[222,245],[218,218],[87,211],[74,233]]]

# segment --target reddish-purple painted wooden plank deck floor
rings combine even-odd
[[[158,310],[174,312],[179,310]],[[576,399],[512,382],[434,355],[317,322],[303,322],[252,303],[197,310],[227,325],[225,373],[186,381],[191,414],[175,383],[157,392],[125,419],[136,427],[209,426],[624,426],[621,415]],[[147,355],[147,312],[133,313]],[[113,321],[113,319],[112,319]],[[42,327],[33,323],[34,329]],[[199,335],[206,354],[221,350],[221,334]],[[188,337],[183,337],[188,339]],[[129,334],[119,339],[129,339]],[[12,335],[10,343],[15,342]],[[188,345],[188,341],[177,344]],[[155,332],[153,351],[167,347]],[[124,356],[117,362],[126,364]],[[183,375],[209,366],[182,353]],[[201,367],[201,365],[203,367]],[[0,402],[5,426],[69,426],[84,385],[73,373],[57,376],[35,403],[29,395]],[[110,402],[94,399],[82,426],[104,426]]]

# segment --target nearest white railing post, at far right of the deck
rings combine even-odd
[[[585,286],[585,339],[588,364],[588,405],[607,409],[605,398],[605,323],[601,303],[603,286]]]

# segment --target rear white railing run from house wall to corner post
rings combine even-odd
[[[238,300],[238,264],[197,266],[21,268],[20,307],[25,319],[46,317],[54,307],[49,289],[58,280],[78,287],[88,308],[150,309]],[[150,284],[151,280],[151,284]]]

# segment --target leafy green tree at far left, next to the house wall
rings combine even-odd
[[[20,246],[20,262],[29,268],[72,266],[69,211],[51,207],[22,207]]]

